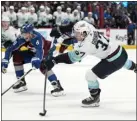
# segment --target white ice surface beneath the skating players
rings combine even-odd
[[[136,51],[128,50],[129,58],[136,61]],[[28,90],[14,93],[11,89],[2,97],[2,120],[135,120],[136,119],[136,75],[121,69],[105,80],[99,79],[101,92],[100,107],[83,108],[81,100],[89,96],[86,70],[99,60],[87,57],[74,65],[59,64],[54,67],[66,96],[52,97],[47,83],[45,117],[39,116],[43,106],[44,76],[39,70],[26,76]],[[25,65],[25,71],[31,65]],[[105,70],[104,70],[105,71]],[[8,72],[2,75],[2,91],[16,81],[12,61]]]

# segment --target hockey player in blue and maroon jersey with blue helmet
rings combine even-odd
[[[25,46],[26,51],[20,51],[20,48]],[[51,56],[52,49],[51,42],[45,40],[45,38],[38,32],[34,31],[31,24],[25,24],[21,28],[21,35],[16,39],[16,41],[7,48],[5,52],[5,57],[2,59],[2,73],[6,73],[9,60],[13,57],[13,64],[15,68],[16,77],[20,78],[24,75],[23,65],[26,63],[31,63],[32,67],[40,69],[40,71],[45,74],[45,71],[41,68],[41,61],[43,58]],[[52,70],[47,72],[48,80],[53,86],[51,94],[53,96],[60,96],[63,94],[63,88],[60,85],[59,80],[57,80],[56,75]],[[23,78],[19,83],[14,85],[13,89],[15,92],[21,92],[27,90],[25,78]]]

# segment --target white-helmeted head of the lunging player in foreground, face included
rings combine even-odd
[[[79,21],[74,25],[73,33],[78,41],[82,41],[90,33],[89,24],[86,21]]]

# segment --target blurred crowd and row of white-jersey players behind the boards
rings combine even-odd
[[[99,29],[127,29],[128,44],[135,44],[136,1],[2,1],[1,5],[2,17],[8,16],[15,28],[24,23],[52,28],[85,20]]]

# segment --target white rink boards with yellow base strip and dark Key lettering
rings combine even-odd
[[[46,40],[49,41],[53,41],[53,38],[50,37],[50,32],[51,32],[52,28],[40,28],[40,29],[36,29],[36,31],[40,32],[43,37]],[[18,32],[20,30],[18,29]],[[107,36],[108,38],[111,37],[111,41],[116,41],[118,44],[122,45],[124,48],[126,49],[136,49],[136,45],[127,45],[127,30],[126,29],[100,29],[100,33]],[[135,43],[137,41],[137,31],[135,31]],[[60,45],[57,46],[57,50],[59,50]],[[72,50],[73,47],[69,46],[67,48],[68,50]],[[23,48],[22,50],[25,50],[25,48]],[[5,49],[2,48],[2,52],[4,52]]]

